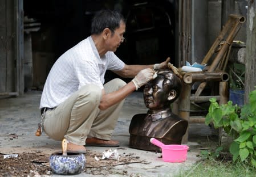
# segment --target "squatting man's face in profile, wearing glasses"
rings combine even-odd
[[[121,22],[120,27],[112,33],[110,39],[108,40],[109,51],[116,52],[116,49],[123,43],[124,41],[124,32],[125,32],[125,23]]]

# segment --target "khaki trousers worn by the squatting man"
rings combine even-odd
[[[109,93],[124,85],[121,79],[113,79],[104,85],[104,90]],[[98,86],[80,88],[58,107],[45,112],[44,132],[54,140],[66,138],[76,145],[85,145],[87,136],[111,140],[124,100],[100,111],[100,99]]]

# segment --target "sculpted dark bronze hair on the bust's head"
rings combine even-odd
[[[162,82],[162,88],[165,91],[175,90],[176,91],[176,100],[178,96],[180,96],[182,83],[181,79],[173,73],[173,71],[168,69],[160,69],[157,70],[157,77],[162,76],[164,77],[164,81]],[[173,101],[174,101],[173,100]]]

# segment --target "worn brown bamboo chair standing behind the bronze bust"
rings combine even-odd
[[[210,58],[216,53],[216,57],[212,60],[212,64],[208,65],[208,70],[201,72],[182,73],[180,69],[169,65],[169,68],[174,71],[182,79],[182,92],[178,99],[178,115],[189,123],[204,123],[205,117],[191,117],[190,119],[190,104],[193,102],[206,102],[210,98],[216,98],[219,104],[225,104],[229,100],[228,85],[229,75],[225,72],[227,60],[231,50],[234,37],[237,35],[242,23],[245,22],[245,17],[241,15],[229,15],[229,18],[222,28],[222,31],[214,41],[212,47],[202,60],[201,64],[208,64]],[[226,39],[224,39],[226,37]],[[222,43],[222,45],[220,45]],[[196,93],[191,95],[191,88],[194,82],[201,82],[198,86]],[[218,82],[218,95],[213,96],[200,96],[204,90],[207,82]],[[188,125],[189,129],[189,125]],[[182,139],[183,143],[188,142],[188,130]]]

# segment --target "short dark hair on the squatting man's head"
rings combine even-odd
[[[109,28],[113,34],[115,29],[120,27],[122,21],[125,23],[124,16],[117,11],[98,11],[92,19],[91,33],[99,35],[105,28]]]

